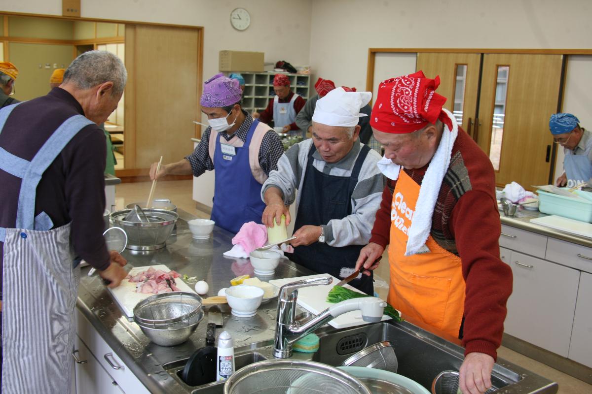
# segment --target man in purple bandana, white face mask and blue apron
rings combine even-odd
[[[158,173],[157,163],[150,167],[152,180],[168,174],[199,177],[215,169],[211,219],[231,233],[239,232],[243,223],[261,223],[265,209],[259,196],[261,185],[270,171],[277,170],[284,153],[277,133],[244,111],[241,98],[237,80],[221,73],[208,79],[201,95],[201,110],[208,116],[204,126],[208,127],[200,144],[184,159],[162,165]],[[227,201],[231,207],[224,204]]]

